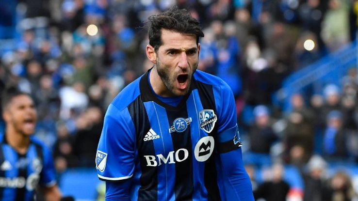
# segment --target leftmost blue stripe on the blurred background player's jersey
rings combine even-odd
[[[14,177],[17,177],[17,175],[18,175],[18,170],[16,168],[17,153],[8,144],[3,145],[2,148],[3,148],[3,152],[4,152],[5,161],[6,160],[9,161],[12,166],[11,170],[5,171],[5,178],[13,179]],[[16,188],[4,188],[2,196],[3,196],[2,200],[8,200],[9,198],[15,199]]]

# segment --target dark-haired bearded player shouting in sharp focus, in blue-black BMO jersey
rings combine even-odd
[[[98,143],[106,200],[253,201],[232,91],[196,70],[199,22],[176,6],[148,19],[154,66],[115,97]]]

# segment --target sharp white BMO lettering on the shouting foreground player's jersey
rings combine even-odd
[[[157,157],[156,157],[157,156]],[[162,154],[160,155],[144,155],[146,158],[146,166],[160,166],[163,163],[175,163],[181,162],[188,158],[189,152],[186,149],[178,149],[176,152],[172,151],[164,157]],[[158,159],[158,160],[157,160]],[[158,162],[157,162],[158,161]]]

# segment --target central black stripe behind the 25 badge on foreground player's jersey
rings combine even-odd
[[[188,118],[186,107],[180,111],[173,111],[166,109],[168,122],[173,125],[174,120],[177,118]],[[174,125],[175,126],[175,125]],[[191,201],[194,192],[194,179],[193,179],[193,155],[192,155],[192,139],[190,135],[190,124],[184,132],[171,133],[173,141],[173,149],[177,152],[179,149],[188,150],[188,158],[175,163],[175,198],[178,201]],[[179,158],[184,158],[184,152],[179,152]]]

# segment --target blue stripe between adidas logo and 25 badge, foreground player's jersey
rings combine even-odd
[[[165,108],[157,105],[153,101],[145,102],[150,127],[157,135],[160,135],[159,139],[153,139],[154,150],[156,155],[162,154],[165,158],[169,155],[169,152],[174,151],[171,134],[169,133],[170,125],[168,123],[168,117],[166,115]],[[156,156],[157,157],[157,156]],[[158,157],[157,157],[158,158]],[[175,154],[173,155],[175,160]],[[157,160],[158,165],[159,161]],[[174,186],[175,186],[175,163],[168,163],[158,166],[158,200],[175,200]],[[165,189],[163,192],[159,189]]]

